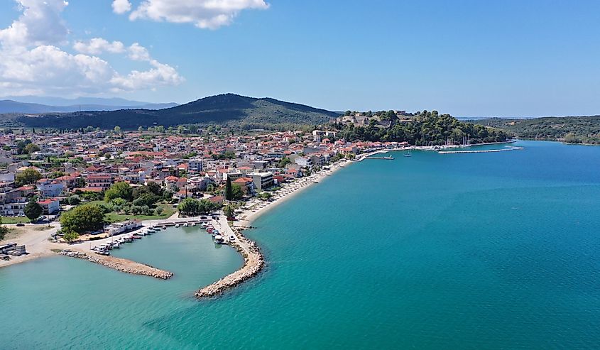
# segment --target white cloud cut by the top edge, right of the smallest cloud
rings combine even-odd
[[[129,18],[194,23],[198,28],[217,29],[229,25],[242,10],[268,6],[264,0],[144,0]]]

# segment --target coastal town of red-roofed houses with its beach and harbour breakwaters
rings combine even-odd
[[[0,213],[8,228],[0,267],[60,253],[165,279],[173,273],[109,251],[167,226],[197,224],[212,233],[218,225],[227,233],[215,229],[215,243],[240,251],[253,264],[246,268],[253,275],[263,257],[241,234],[253,219],[347,161],[408,143],[347,142],[318,129],[236,135],[211,126],[5,130],[0,147]],[[89,226],[94,209],[101,224]],[[76,215],[85,218],[79,226],[72,223]],[[241,275],[249,278],[244,269]]]

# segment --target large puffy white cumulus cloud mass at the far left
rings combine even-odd
[[[184,79],[170,65],[153,59],[139,43],[126,46],[104,38],[77,40],[77,54],[60,48],[69,31],[60,18],[65,1],[18,0],[23,12],[0,30],[0,94],[100,94],[155,89]],[[103,53],[146,62],[146,70],[117,72]]]

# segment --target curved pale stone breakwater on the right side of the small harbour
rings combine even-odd
[[[239,231],[236,231],[236,236],[238,239],[229,244],[234,246],[244,256],[244,266],[236,272],[217,280],[212,285],[207,285],[198,290],[195,294],[197,298],[201,299],[222,295],[225,290],[233,288],[257,275],[265,266],[263,254],[261,253],[261,249],[256,246],[256,243],[246,239]]]

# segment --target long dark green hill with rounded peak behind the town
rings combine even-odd
[[[31,113],[31,112],[30,112]],[[138,126],[175,126],[180,124],[236,124],[243,128],[263,128],[290,124],[323,124],[338,113],[311,106],[278,101],[271,98],[220,94],[165,109],[119,109],[116,111],[76,111],[72,113],[42,113],[4,115],[5,126],[55,128],[138,128]]]

